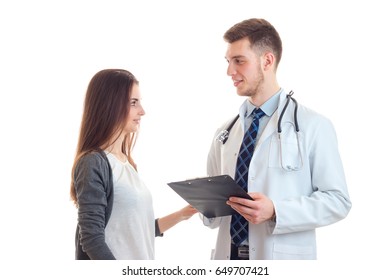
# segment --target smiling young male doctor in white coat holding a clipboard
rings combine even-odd
[[[230,28],[224,39],[227,74],[238,95],[247,99],[238,120],[229,120],[217,130],[208,155],[208,175],[234,178],[250,113],[260,107],[265,116],[260,120],[247,182],[254,200],[232,197],[227,203],[249,223],[243,243],[248,259],[316,259],[316,228],[345,218],[351,208],[333,125],[300,104],[295,114],[293,100],[285,106],[288,94],[276,79],[282,43],[269,22],[245,20]],[[223,144],[220,132],[232,123]],[[212,259],[235,259],[231,216],[203,217],[203,221],[219,228]]]

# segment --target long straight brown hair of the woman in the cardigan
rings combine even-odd
[[[79,140],[72,167],[70,196],[77,205],[74,186],[74,171],[78,160],[85,154],[105,149],[123,130],[130,110],[130,95],[133,85],[138,84],[135,76],[123,69],[105,69],[96,73],[89,82],[84,100]],[[130,93],[130,94],[129,94]],[[125,136],[122,152],[135,167],[131,150],[136,133]]]

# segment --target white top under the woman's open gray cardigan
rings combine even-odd
[[[152,260],[155,238],[152,196],[128,161],[106,154],[114,180],[106,243],[118,260]]]

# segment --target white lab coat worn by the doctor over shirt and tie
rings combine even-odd
[[[248,192],[260,192],[272,199],[277,217],[276,223],[249,224],[252,260],[316,259],[315,229],[345,218],[351,208],[333,125],[302,105],[298,107],[298,125],[303,166],[299,171],[281,167],[277,123],[285,102],[283,91],[277,111],[259,136],[249,167]],[[227,142],[224,145],[216,140],[212,142],[207,165],[209,176],[229,174],[234,178],[244,135],[243,108],[240,111]],[[282,122],[282,158],[284,166],[299,167],[294,127],[294,105],[290,101]],[[203,217],[205,225],[219,227],[212,259],[230,259],[230,220],[231,216]]]

